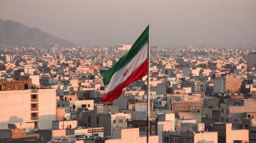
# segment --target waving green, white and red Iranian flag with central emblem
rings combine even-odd
[[[117,99],[123,88],[147,75],[148,42],[149,26],[138,37],[128,53],[105,71],[103,76],[105,91],[102,102],[107,103]]]

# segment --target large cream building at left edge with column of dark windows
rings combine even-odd
[[[0,128],[10,123],[34,122],[35,128],[52,128],[56,120],[55,89],[0,91]]]

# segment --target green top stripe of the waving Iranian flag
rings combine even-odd
[[[106,86],[109,84],[111,77],[115,72],[117,72],[119,69],[124,67],[126,64],[128,64],[133,57],[135,57],[140,49],[149,41],[149,26],[142,32],[140,37],[136,40],[136,42],[133,44],[131,49],[128,51],[125,56],[121,57],[119,61],[111,67],[109,70],[105,71],[104,76],[103,76],[103,82],[104,85]]]

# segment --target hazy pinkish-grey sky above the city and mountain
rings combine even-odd
[[[256,45],[256,0],[0,0],[0,18],[78,45]]]

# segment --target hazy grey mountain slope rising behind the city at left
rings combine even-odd
[[[3,45],[54,45],[74,46],[76,44],[38,28],[30,28],[19,22],[0,19],[0,44]]]

